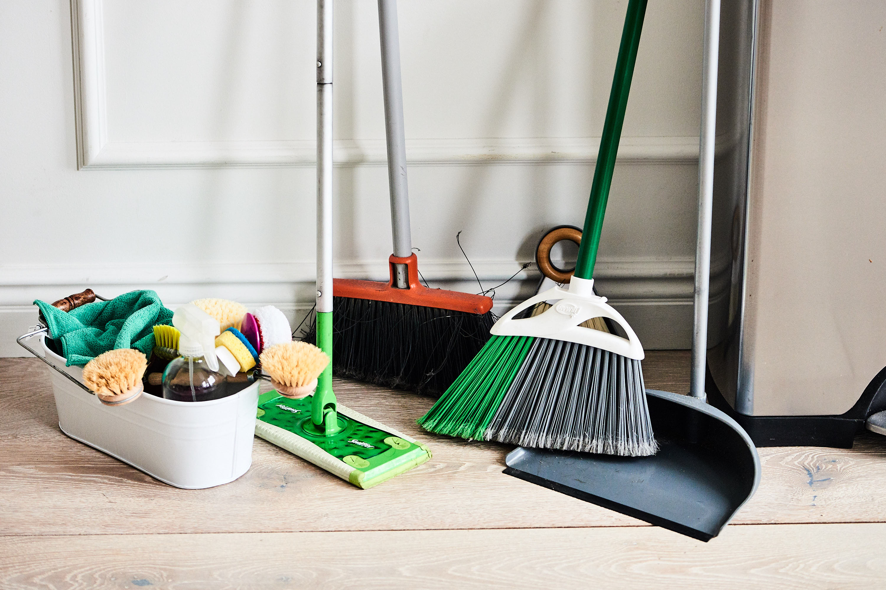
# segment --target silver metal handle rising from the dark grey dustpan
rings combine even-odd
[[[711,290],[711,211],[714,195],[714,142],[717,134],[717,61],[719,0],[704,6],[702,125],[698,161],[698,234],[696,241],[695,323],[692,333],[692,375],[689,395],[705,400],[704,374],[708,350],[708,302]]]

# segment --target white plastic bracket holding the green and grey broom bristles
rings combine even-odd
[[[532,318],[514,319],[521,311],[545,301],[555,303]],[[625,330],[627,338],[581,326],[591,318],[610,318]],[[593,279],[572,277],[568,289],[554,287],[527,299],[495,322],[490,332],[496,336],[534,336],[586,344],[638,361],[645,356],[640,339],[625,318],[606,303],[606,297],[594,295]]]

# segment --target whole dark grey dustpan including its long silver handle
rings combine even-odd
[[[590,455],[517,448],[504,471],[699,540],[711,540],[757,490],[760,460],[750,437],[704,394],[711,269],[719,0],[704,14],[695,330],[690,395],[646,390],[656,456]]]

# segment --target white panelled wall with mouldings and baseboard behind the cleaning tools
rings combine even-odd
[[[625,0],[400,0],[413,241],[478,290],[581,225]],[[336,6],[337,276],[390,254],[376,4]],[[598,263],[647,348],[688,348],[703,4],[649,4]],[[307,310],[315,3],[0,3],[0,354],[39,297],[154,288]],[[530,269],[498,309],[532,292]],[[473,283],[471,283],[473,281]]]

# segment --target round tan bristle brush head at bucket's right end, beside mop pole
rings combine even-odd
[[[317,377],[330,364],[330,357],[313,344],[293,341],[275,344],[262,351],[261,370],[280,395],[299,399],[314,393]]]

